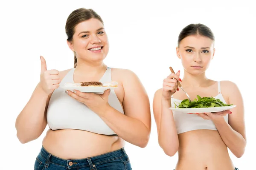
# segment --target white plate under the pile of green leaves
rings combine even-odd
[[[222,106],[222,107],[214,107],[214,108],[169,108],[172,111],[177,111],[181,113],[207,113],[207,112],[219,112],[225,111],[232,108],[235,108],[236,105],[231,106]]]

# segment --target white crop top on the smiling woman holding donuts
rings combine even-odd
[[[75,68],[71,69],[62,79],[60,86],[65,83],[74,83],[73,74]],[[111,82],[111,68],[107,68],[99,82]],[[124,114],[122,106],[111,90],[108,96],[108,103],[111,107]],[[57,88],[52,93],[47,109],[47,124],[50,129],[78,129],[104,135],[116,135],[108,125],[86,105],[76,101],[65,93],[64,89]]]

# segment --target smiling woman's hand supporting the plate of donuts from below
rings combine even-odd
[[[108,104],[108,96],[110,94],[110,89],[105,90],[104,94],[94,94],[94,93],[84,93],[81,91],[67,90],[66,93],[77,101],[84,103],[90,110],[99,114],[105,111]]]

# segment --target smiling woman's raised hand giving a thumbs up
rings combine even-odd
[[[41,59],[41,75],[40,85],[46,94],[51,94],[56,88],[59,87],[61,82],[58,70],[47,70],[46,61],[44,57],[40,56]]]

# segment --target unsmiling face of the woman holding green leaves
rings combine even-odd
[[[214,56],[214,41],[209,37],[190,35],[180,41],[176,52],[187,72],[201,74],[207,70]]]

